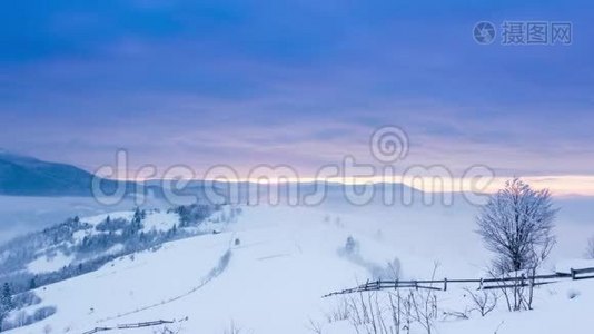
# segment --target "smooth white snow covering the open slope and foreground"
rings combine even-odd
[[[42,304],[33,308],[55,305],[57,313],[11,333],[50,327],[51,333],[83,333],[157,320],[175,320],[168,327],[179,333],[225,333],[231,323],[240,333],[311,333],[310,320],[321,324],[321,333],[355,333],[348,322],[325,321],[340,299],[323,295],[385,274],[388,271],[382,269],[396,258],[402,278],[429,278],[435,262],[438,277],[481,277],[489,254],[474,233],[475,214],[475,207],[463,204],[244,207],[220,234],[167,243],[38,288]],[[149,217],[148,228],[170,224],[159,215]],[[584,217],[590,218],[560,214],[557,247],[545,269],[582,256],[587,237],[594,235],[594,224]],[[346,254],[348,237],[356,249]],[[462,287],[438,292],[440,304],[462,311],[468,303]],[[594,326],[592,305],[594,279],[565,281],[539,287],[534,311],[509,313],[501,307],[486,317],[438,321],[436,333],[587,333]]]

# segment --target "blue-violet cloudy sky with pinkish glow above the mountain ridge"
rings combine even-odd
[[[505,21],[571,22],[572,43],[502,45]],[[385,165],[369,138],[396,126],[396,170],[479,164],[594,194],[592,1],[11,1],[0,26],[10,151],[310,177]]]

